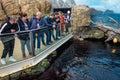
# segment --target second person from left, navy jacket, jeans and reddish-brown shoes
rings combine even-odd
[[[18,18],[18,25],[20,27],[20,31],[30,30],[30,22],[28,21],[26,13],[20,14],[20,17]],[[20,39],[21,51],[22,51],[23,58],[26,58],[25,45],[27,46],[29,55],[32,56],[29,32],[18,33],[18,38]]]

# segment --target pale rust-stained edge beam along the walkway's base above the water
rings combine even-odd
[[[36,56],[33,56],[31,58],[0,67],[0,78],[5,77],[5,76],[10,75],[15,72],[30,68],[32,66],[35,66],[40,61],[42,61],[45,57],[50,55],[51,52],[56,50],[59,46],[64,44],[66,41],[68,41],[72,37],[73,37],[73,35],[72,35],[72,33],[70,33],[67,36],[60,39],[59,41],[57,41],[56,43],[52,44],[49,48],[40,52],[41,54],[37,54]]]

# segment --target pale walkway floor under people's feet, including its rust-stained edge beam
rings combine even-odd
[[[62,44],[67,42],[72,37],[73,37],[72,32],[70,32],[62,36],[60,40],[55,40],[51,45],[48,45],[48,46],[42,45],[42,49],[35,52],[36,56],[30,57],[27,54],[28,57],[26,59],[22,58],[22,53],[20,49],[20,41],[18,38],[16,38],[14,57],[17,59],[17,62],[11,63],[8,61],[8,58],[7,58],[7,65],[2,65],[0,63],[0,77],[4,77],[12,73],[18,72],[20,70],[35,66],[36,64],[38,64],[40,61],[42,61],[49,54],[51,54],[54,50],[59,48]],[[3,50],[3,46],[1,42],[0,42],[0,46],[1,46],[0,48],[0,56],[1,56],[2,50]]]

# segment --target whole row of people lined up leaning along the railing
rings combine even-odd
[[[66,28],[64,28],[64,26],[66,26]],[[25,45],[28,49],[29,55],[33,56],[29,31],[32,31],[33,49],[40,50],[40,41],[42,41],[43,45],[45,46],[50,45],[52,43],[51,37],[54,40],[60,39],[62,32],[65,30],[66,32],[69,32],[69,26],[70,11],[68,11],[66,15],[63,15],[61,11],[50,13],[49,15],[43,15],[41,12],[37,12],[30,19],[28,19],[27,13],[20,13],[20,16],[18,18],[15,16],[10,16],[9,19],[3,22],[0,27],[0,37],[4,45],[3,53],[1,56],[1,63],[3,65],[6,64],[5,58],[7,54],[9,54],[9,61],[16,61],[16,59],[13,57],[15,43],[14,33],[17,32],[17,36],[20,40],[22,57],[26,58]],[[45,29],[42,31],[42,28]],[[46,41],[44,40],[44,34],[46,35]]]

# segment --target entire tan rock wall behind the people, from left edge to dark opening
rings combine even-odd
[[[10,15],[18,15],[20,12],[32,16],[37,11],[49,13],[51,4],[48,0],[0,0],[0,20]]]

